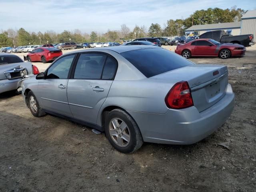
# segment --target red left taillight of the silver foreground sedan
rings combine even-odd
[[[181,81],[176,83],[165,97],[168,108],[182,109],[193,106],[193,99],[190,93],[188,82]]]

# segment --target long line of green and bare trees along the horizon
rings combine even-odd
[[[115,42],[121,38],[124,40],[141,38],[145,36],[183,36],[185,29],[192,25],[214,24],[224,22],[239,22],[245,10],[236,8],[220,9],[208,8],[207,10],[197,10],[186,19],[167,20],[163,27],[160,24],[151,24],[149,29],[146,26],[135,25],[130,30],[126,24],[122,24],[120,30],[108,30],[106,33],[91,34],[82,33],[79,29],[74,31],[64,30],[62,33],[47,30],[46,32],[27,32],[24,28],[19,30],[8,29],[0,33],[0,46],[22,46],[32,44],[55,44],[60,42]]]

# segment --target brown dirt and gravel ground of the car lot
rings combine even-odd
[[[0,191],[255,192],[256,46],[242,58],[190,60],[227,65],[236,104],[214,134],[188,146],[144,143],[122,154],[104,134],[35,118],[21,95],[0,94]],[[49,65],[35,64],[40,71]],[[223,142],[228,148],[216,145]]]

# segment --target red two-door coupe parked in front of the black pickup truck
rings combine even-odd
[[[221,44],[213,39],[196,39],[186,44],[178,44],[175,53],[190,58],[191,56],[215,56],[222,59],[243,56],[246,48],[240,44]]]

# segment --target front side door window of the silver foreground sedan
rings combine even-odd
[[[47,78],[67,79],[68,72],[75,55],[68,55],[58,59],[47,71]]]

